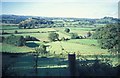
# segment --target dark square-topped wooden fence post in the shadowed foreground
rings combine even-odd
[[[68,62],[69,62],[70,76],[75,76],[75,74],[76,74],[76,55],[68,54]]]

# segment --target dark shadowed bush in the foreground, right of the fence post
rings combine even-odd
[[[116,76],[117,69],[107,62],[96,60],[93,64],[78,63],[78,73],[80,76]],[[108,71],[109,70],[109,71]]]

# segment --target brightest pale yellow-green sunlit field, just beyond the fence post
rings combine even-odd
[[[72,40],[73,41],[73,40]],[[50,51],[51,52],[56,52],[56,53],[61,53],[62,52],[62,48],[61,46],[64,48],[65,51],[69,52],[69,53],[80,53],[82,55],[96,55],[96,54],[108,54],[107,50],[103,50],[100,49],[99,47],[96,46],[89,46],[89,45],[83,45],[83,44],[79,44],[79,43],[75,43],[75,42],[71,42],[71,41],[64,41],[64,42],[52,42],[52,43],[48,43],[49,45],[51,45]]]

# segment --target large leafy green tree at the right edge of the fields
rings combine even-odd
[[[109,24],[97,29],[94,38],[98,40],[101,48],[110,52],[120,52],[120,24]]]

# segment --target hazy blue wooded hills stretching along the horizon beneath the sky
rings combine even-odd
[[[18,15],[0,15],[3,24],[20,24],[25,28],[38,27],[64,27],[64,26],[85,26],[95,24],[112,24],[120,22],[120,19],[113,17],[104,17],[101,19],[91,18],[59,18],[59,17],[40,17],[40,16],[18,16]],[[49,26],[48,26],[49,25]]]

